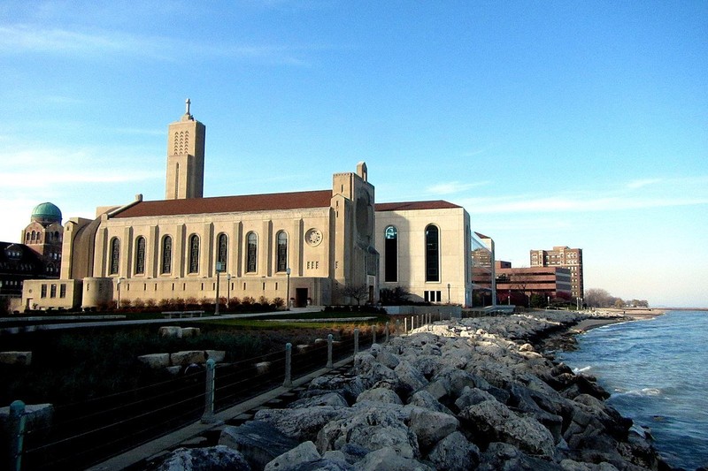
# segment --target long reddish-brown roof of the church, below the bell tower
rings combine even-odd
[[[278,209],[329,208],[332,190],[296,193],[250,194],[188,198],[186,200],[140,201],[113,217],[177,216],[188,214],[272,211]]]

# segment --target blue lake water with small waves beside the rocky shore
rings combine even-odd
[[[669,311],[646,321],[589,330],[574,352],[576,372],[597,377],[608,405],[648,427],[673,467],[708,466],[708,313]]]

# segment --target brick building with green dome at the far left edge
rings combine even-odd
[[[57,206],[50,202],[35,206],[21,242],[0,242],[0,298],[19,300],[26,280],[58,278],[63,237]]]

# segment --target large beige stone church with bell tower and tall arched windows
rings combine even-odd
[[[96,219],[69,219],[60,278],[27,281],[25,308],[214,300],[216,292],[296,307],[357,304],[348,296],[355,288],[375,303],[382,282],[415,300],[469,305],[465,209],[447,201],[376,204],[364,162],[335,173],[330,189],[205,198],[206,127],[189,107],[188,100],[168,126],[165,200],[138,194],[97,209]],[[48,291],[47,283],[59,288]]]

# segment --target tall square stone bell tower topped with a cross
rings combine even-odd
[[[204,195],[204,140],[206,126],[191,115],[187,99],[181,119],[167,128],[167,182],[165,200]]]

